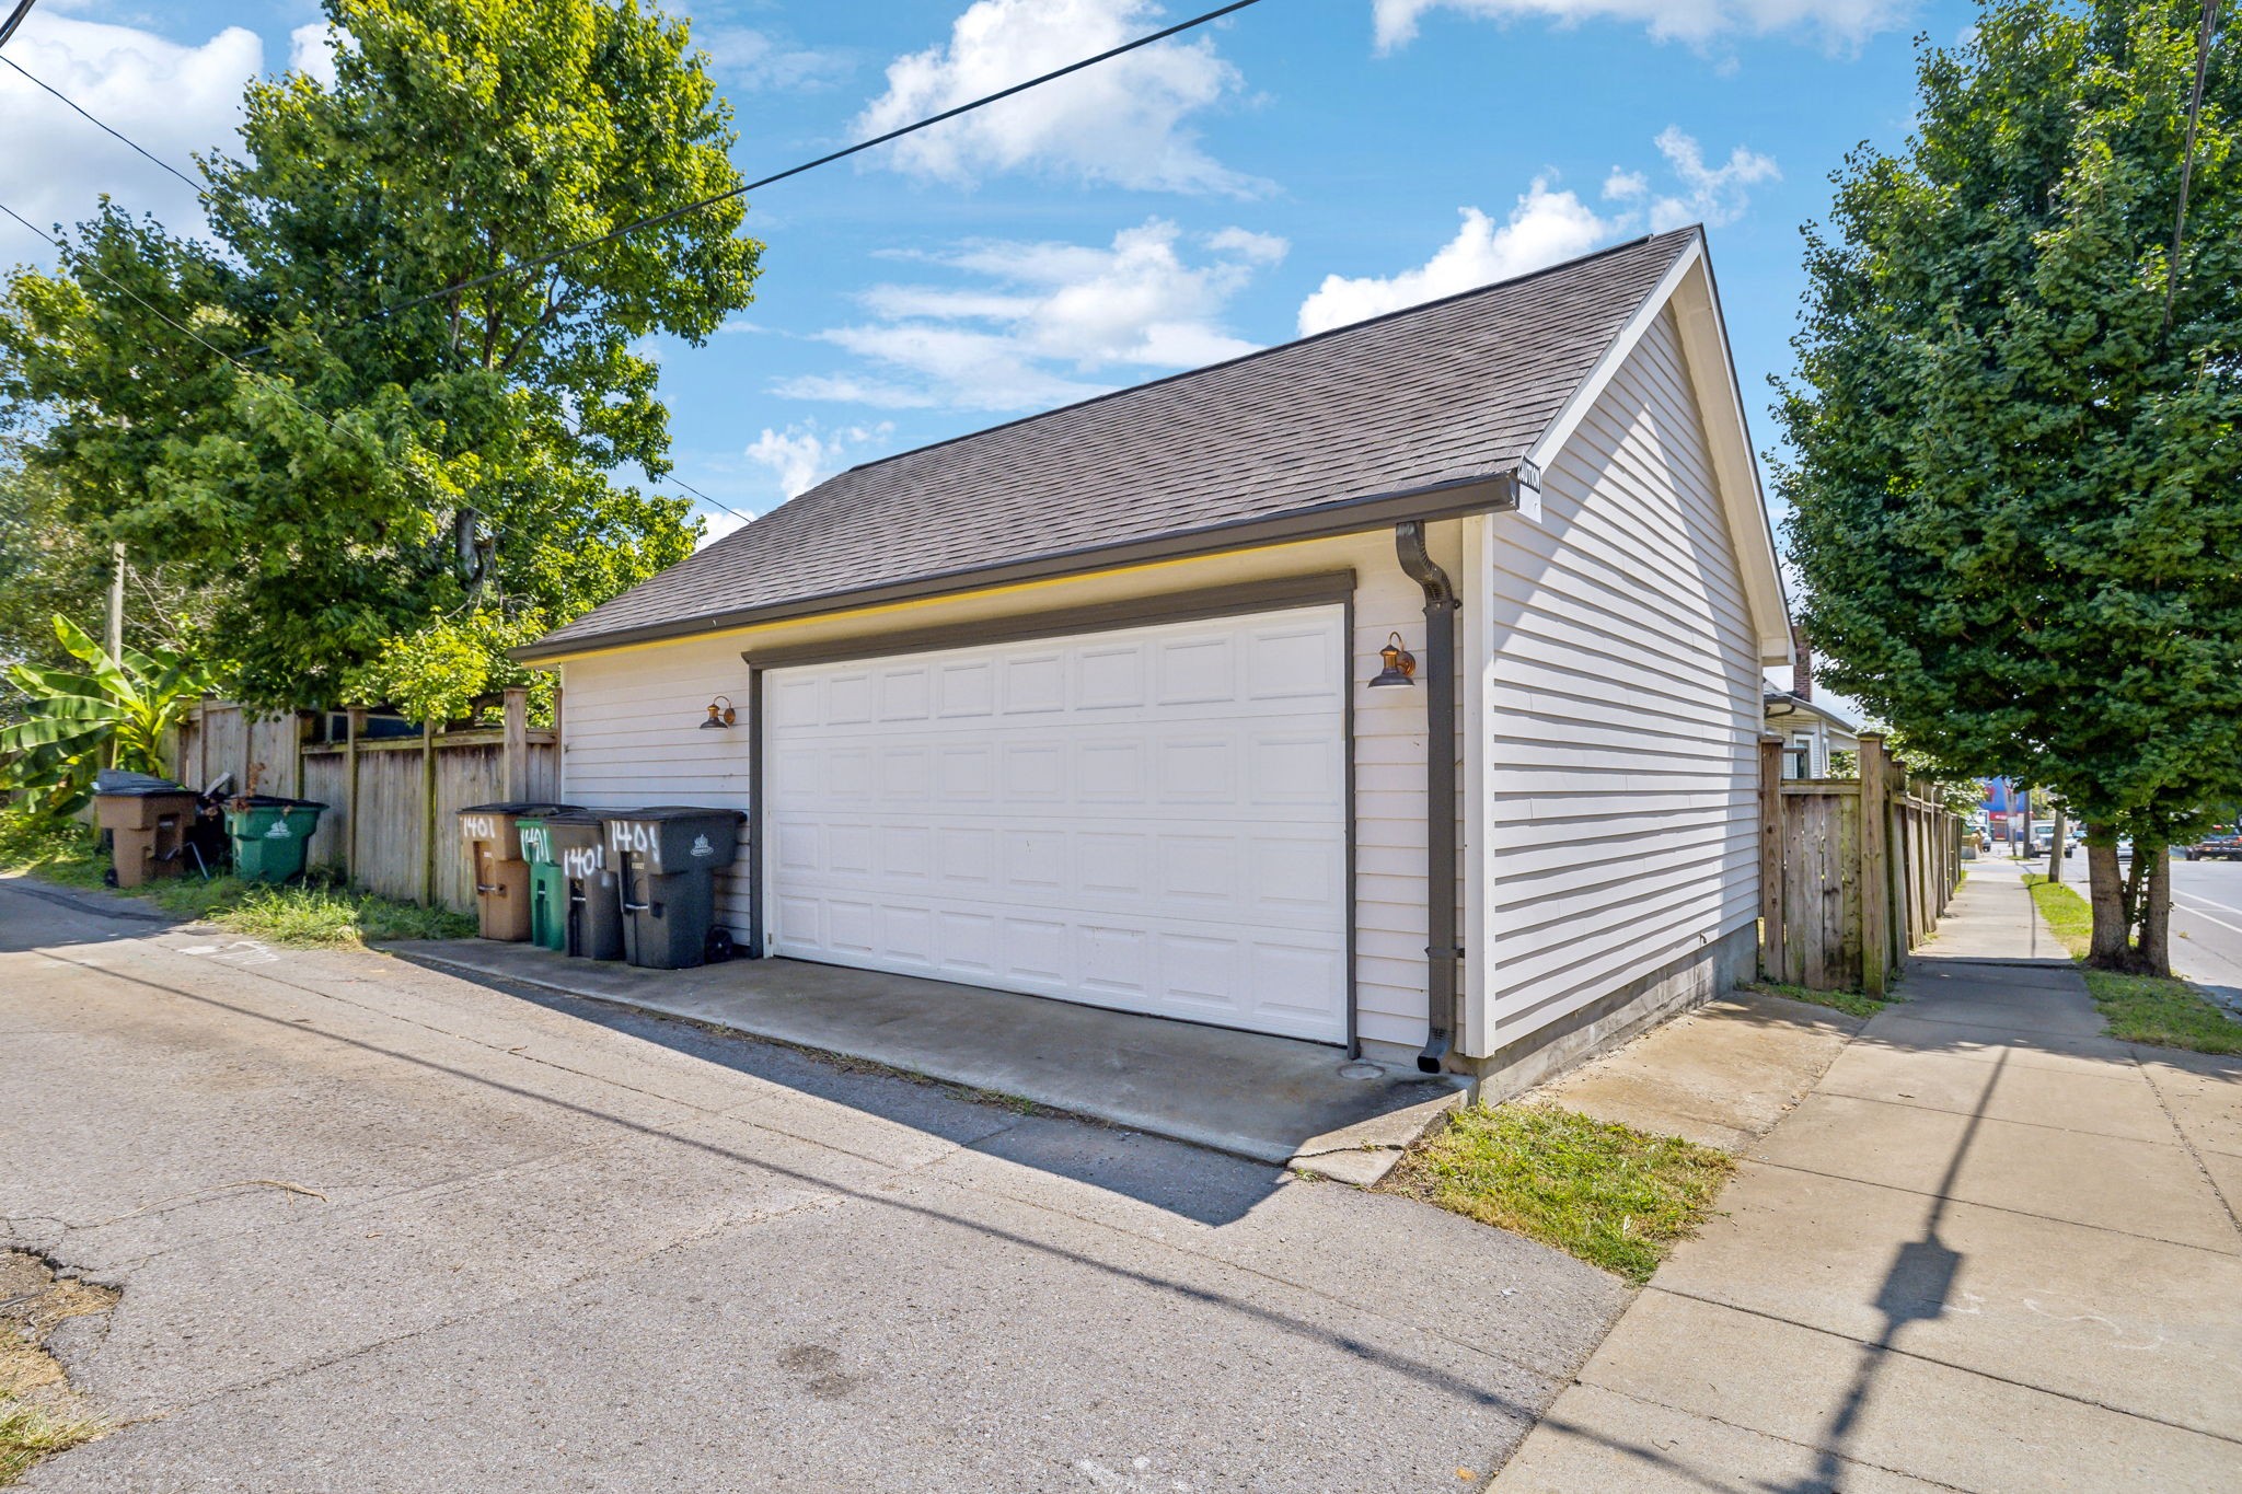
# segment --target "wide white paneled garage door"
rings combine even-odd
[[[765,676],[767,950],[1345,1039],[1338,607]]]

